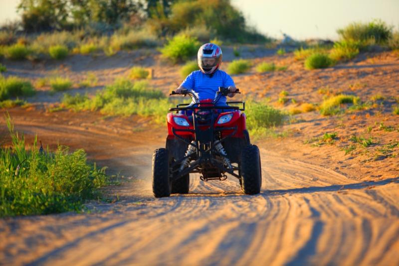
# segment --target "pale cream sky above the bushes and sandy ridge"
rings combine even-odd
[[[19,16],[19,0],[0,0],[0,24]],[[303,40],[337,39],[337,29],[351,22],[382,19],[399,29],[399,0],[231,0],[248,24],[261,33],[282,33]]]

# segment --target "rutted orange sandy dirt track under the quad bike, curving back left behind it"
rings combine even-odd
[[[1,265],[399,264],[399,177],[360,181],[260,146],[260,194],[243,195],[233,178],[192,176],[190,194],[155,199],[151,155],[164,132],[10,113],[18,131],[83,147],[133,177],[112,188],[119,202],[92,202],[90,214],[0,220]]]

